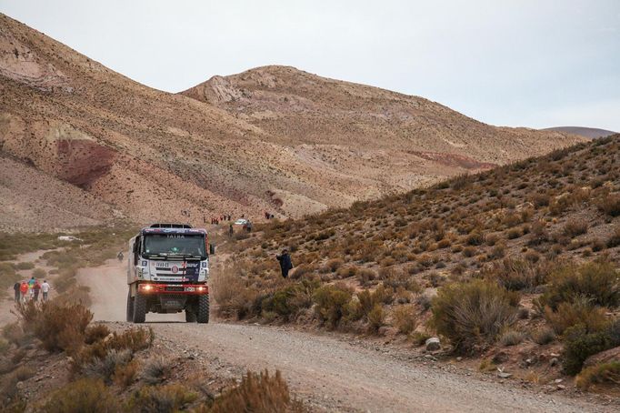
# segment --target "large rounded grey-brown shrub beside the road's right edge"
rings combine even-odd
[[[474,351],[516,319],[518,299],[485,280],[441,287],[433,299],[433,324],[457,351]]]

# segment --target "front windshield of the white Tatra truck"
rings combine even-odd
[[[206,257],[205,236],[186,234],[153,234],[145,236],[146,256]]]

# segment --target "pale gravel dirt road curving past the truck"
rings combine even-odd
[[[92,288],[95,319],[125,320],[125,272],[118,262],[82,270],[80,281]],[[603,412],[617,408],[467,377],[464,372],[404,361],[337,337],[278,327],[186,324],[180,322],[182,315],[148,314],[146,319],[159,340],[197,358],[216,358],[237,368],[280,369],[297,397],[328,411]]]

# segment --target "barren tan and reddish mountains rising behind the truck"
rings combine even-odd
[[[98,221],[112,210],[141,223],[299,217],[581,139],[486,126],[423,98],[289,67],[169,94],[5,15],[0,76],[0,151],[94,196],[107,211]],[[5,192],[11,203],[20,196]],[[15,229],[45,224],[34,210],[24,217],[34,220]]]

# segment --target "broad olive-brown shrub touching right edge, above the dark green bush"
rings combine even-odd
[[[620,304],[620,281],[615,265],[610,262],[560,267],[551,273],[549,281],[541,302],[554,310],[560,303],[572,302],[578,297],[586,297],[602,307]]]

